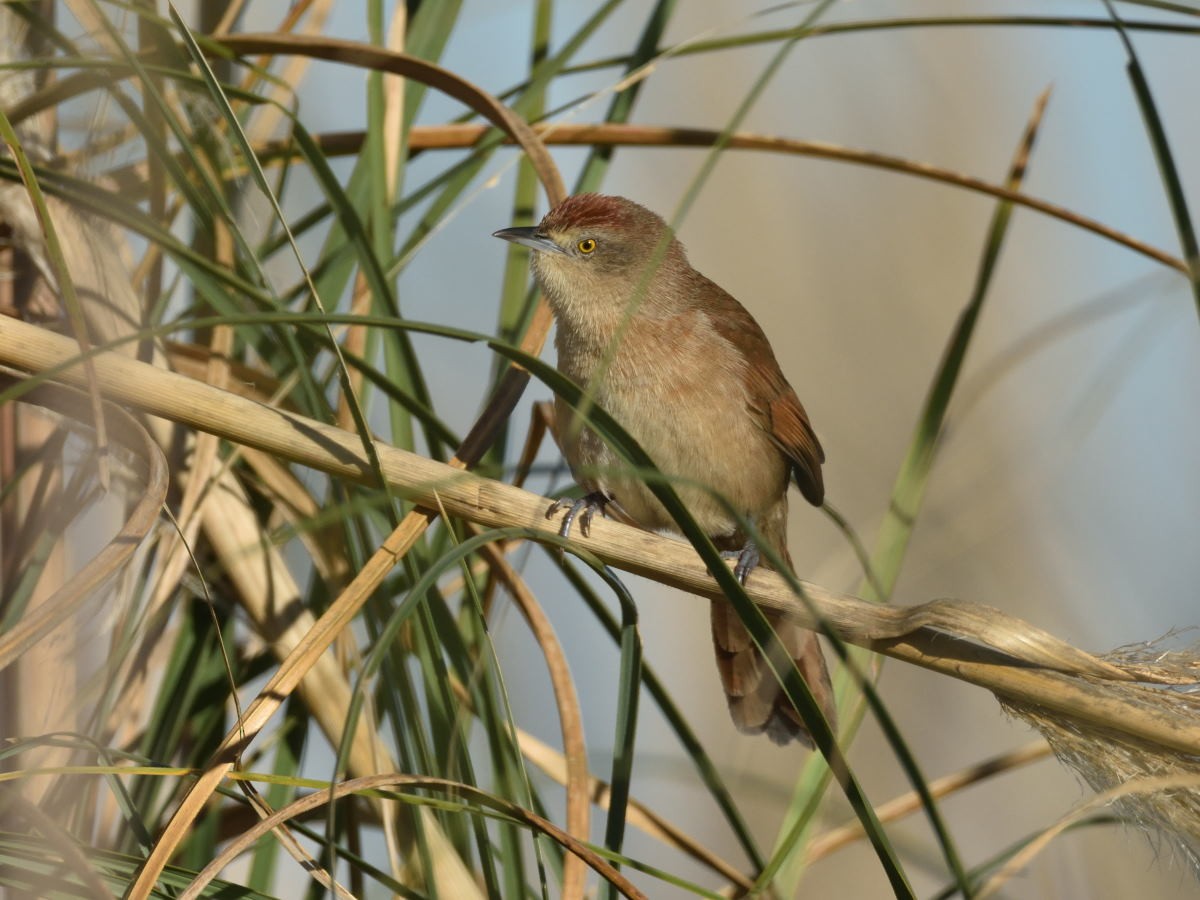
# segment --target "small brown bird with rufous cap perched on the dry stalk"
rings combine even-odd
[[[758,323],[688,262],[661,217],[632,200],[570,197],[534,228],[497,238],[530,247],[533,272],[554,312],[558,368],[592,391],[672,476],[674,490],[714,544],[738,554],[743,581],[758,551],[725,498],[792,568],[787,486],[821,505],[824,452]],[[679,533],[636,473],[556,398],[557,438],[587,496],[576,516],[587,532],[595,510],[641,528]],[[707,488],[707,490],[706,490]],[[559,503],[547,512],[564,509]],[[812,695],[834,721],[833,691],[817,636],[767,613]],[[799,715],[733,608],[712,604],[716,664],[739,730],[778,744],[811,744]]]

